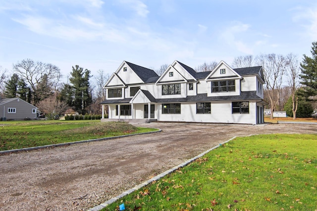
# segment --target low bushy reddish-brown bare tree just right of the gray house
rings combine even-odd
[[[44,100],[41,100],[39,103],[36,104],[40,111],[44,112],[45,114],[61,114],[62,112],[66,111],[68,108],[67,103],[64,101],[60,101],[56,97],[56,93],[47,97]]]

